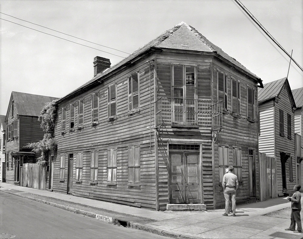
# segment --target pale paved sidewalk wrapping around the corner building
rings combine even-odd
[[[0,183],[0,191],[36,200],[112,224],[173,238],[303,238],[285,231],[289,219],[262,216],[290,207],[288,200],[275,198],[237,206],[236,217],[222,216],[224,209],[210,211],[152,211],[69,194]],[[231,214],[229,214],[231,215]],[[281,232],[282,237],[270,236]]]

